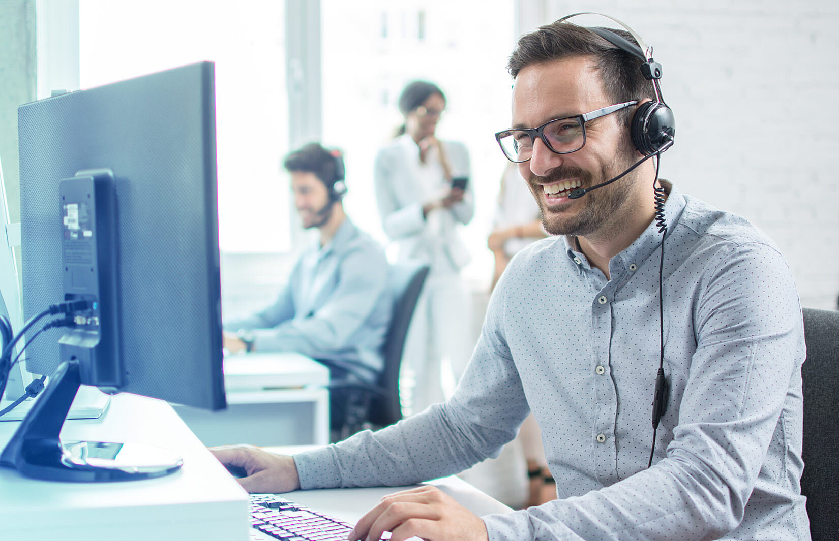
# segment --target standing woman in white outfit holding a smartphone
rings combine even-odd
[[[470,310],[460,269],[469,261],[458,226],[472,220],[469,154],[462,143],[440,141],[446,108],[440,87],[413,81],[399,96],[404,117],[397,137],[376,156],[378,210],[399,261],[430,266],[414,310],[403,355],[403,407],[416,413],[445,400],[472,351]],[[408,412],[406,412],[408,413]]]

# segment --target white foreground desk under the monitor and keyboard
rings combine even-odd
[[[0,424],[0,446],[17,426],[18,422]],[[61,437],[157,445],[179,452],[184,466],[158,479],[112,483],[38,481],[0,467],[0,541],[249,538],[248,495],[169,404],[119,394],[100,419],[67,421]],[[456,477],[432,482],[472,512],[510,511]],[[399,490],[404,488],[297,491],[284,497],[355,523],[380,497]]]

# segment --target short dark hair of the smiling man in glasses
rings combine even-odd
[[[628,39],[632,44],[638,44],[626,30],[609,30]],[[645,79],[641,73],[641,59],[618,49],[590,29],[574,23],[554,22],[524,34],[510,55],[507,69],[515,78],[519,71],[529,65],[575,56],[589,56],[594,59],[603,81],[603,88],[613,103],[641,101],[648,97],[655,99],[652,81]],[[629,108],[618,114],[622,115],[623,121],[628,125],[633,111],[633,108]]]

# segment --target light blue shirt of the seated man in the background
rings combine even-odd
[[[255,351],[357,363],[373,381],[393,303],[388,269],[378,242],[347,218],[331,242],[315,242],[300,256],[274,304],[225,328],[254,330]]]

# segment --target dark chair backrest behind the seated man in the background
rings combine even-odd
[[[428,272],[428,265],[396,263],[388,273],[388,291],[393,299],[393,311],[383,346],[384,369],[378,377],[378,386],[383,390],[383,395],[373,398],[368,413],[368,420],[374,424],[385,426],[402,419],[399,367],[402,364],[405,336],[408,335],[411,317]]]

